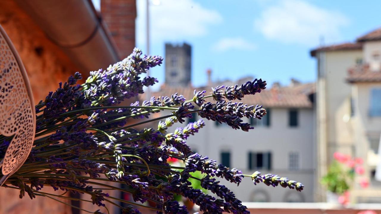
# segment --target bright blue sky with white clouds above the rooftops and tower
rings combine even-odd
[[[146,51],[146,0],[137,0],[136,46]],[[150,53],[164,56],[164,43],[192,45],[192,84],[253,76],[270,85],[290,78],[315,80],[309,51],[354,41],[381,25],[381,1],[150,0]],[[164,81],[164,66],[151,70]],[[158,85],[155,87],[158,88]]]

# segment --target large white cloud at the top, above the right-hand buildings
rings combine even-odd
[[[339,12],[299,0],[282,0],[269,6],[254,21],[255,28],[266,38],[303,45],[317,45],[321,36],[337,42],[341,27],[348,24],[349,19]]]

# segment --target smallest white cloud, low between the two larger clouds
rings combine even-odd
[[[243,38],[222,38],[213,45],[215,51],[254,50],[256,46]]]

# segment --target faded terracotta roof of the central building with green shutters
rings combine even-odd
[[[206,90],[207,93],[211,91],[207,87],[195,88],[197,91]],[[194,88],[183,87],[173,88],[164,86],[155,93],[153,96],[171,96],[174,93],[179,93],[187,99],[192,99]],[[264,89],[261,93],[255,95],[248,95],[242,99],[245,104],[256,105],[260,104],[264,107],[277,107],[277,108],[312,108],[312,102],[309,95],[314,93],[315,84],[306,83],[296,86],[286,87],[273,87],[271,89]],[[211,101],[211,99],[210,99]]]

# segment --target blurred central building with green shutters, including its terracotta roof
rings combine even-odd
[[[211,70],[207,71],[207,75],[210,80]],[[247,78],[242,78],[237,83],[246,81]],[[224,83],[235,84],[227,80]],[[196,90],[210,91],[211,87],[217,85],[221,85],[221,82],[210,81],[207,86]],[[165,84],[154,96],[179,93],[189,99],[193,97],[194,89],[191,86],[173,87]],[[303,180],[306,186],[299,193],[284,188],[268,188],[266,185],[253,186],[250,179],[244,179],[239,187],[225,180],[221,181],[242,201],[313,202],[315,154],[314,141],[311,139],[314,139],[315,134],[314,93],[314,83],[303,84],[296,80],[288,86],[276,83],[255,96],[242,99],[245,104],[263,104],[266,107],[267,114],[262,120],[244,119],[244,122],[255,126],[254,130],[243,132],[215,121],[204,120],[205,127],[195,136],[189,137],[187,143],[194,152],[208,155],[225,166],[238,168],[244,174],[252,174],[257,170],[263,174],[281,174]],[[194,113],[193,118],[187,122],[199,119]],[[173,132],[174,128],[169,131]]]

